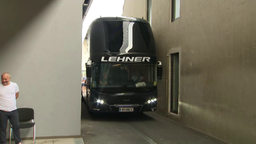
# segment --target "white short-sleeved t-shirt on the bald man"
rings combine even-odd
[[[19,92],[18,84],[10,82],[8,86],[0,83],[0,110],[10,112],[16,110],[16,96]]]

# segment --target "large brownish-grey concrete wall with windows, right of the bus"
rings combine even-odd
[[[158,114],[228,143],[255,143],[256,1],[180,2],[180,18],[171,22],[171,0],[152,0],[164,68]],[[179,115],[168,112],[171,51],[180,51]]]

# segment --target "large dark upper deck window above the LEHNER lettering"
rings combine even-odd
[[[90,52],[155,53],[150,24],[121,20],[95,21],[90,26]]]

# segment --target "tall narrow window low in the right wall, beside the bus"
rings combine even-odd
[[[170,54],[170,112],[178,114],[179,108],[179,53]]]

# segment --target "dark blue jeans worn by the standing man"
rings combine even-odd
[[[6,128],[8,124],[8,119],[12,124],[12,131],[15,144],[18,144],[21,142],[21,139],[19,114],[17,110],[13,110],[11,112],[0,110],[0,144],[6,144]]]

